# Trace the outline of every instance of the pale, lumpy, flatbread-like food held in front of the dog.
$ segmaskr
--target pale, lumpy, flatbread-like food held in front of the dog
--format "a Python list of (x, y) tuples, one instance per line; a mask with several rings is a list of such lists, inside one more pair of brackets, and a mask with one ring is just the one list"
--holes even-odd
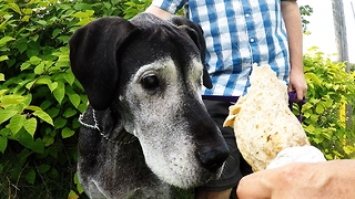
[(283, 149), (310, 146), (310, 142), (288, 108), (286, 83), (277, 78), (270, 65), (253, 65), (250, 82), (247, 94), (230, 107), (224, 126), (234, 128), (242, 156), (257, 171), (265, 169)]

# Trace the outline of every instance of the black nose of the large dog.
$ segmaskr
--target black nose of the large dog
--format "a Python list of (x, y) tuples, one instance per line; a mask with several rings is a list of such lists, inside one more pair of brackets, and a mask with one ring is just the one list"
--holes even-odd
[(212, 172), (222, 167), (229, 155), (230, 150), (224, 146), (217, 148), (205, 148), (196, 154), (202, 167)]

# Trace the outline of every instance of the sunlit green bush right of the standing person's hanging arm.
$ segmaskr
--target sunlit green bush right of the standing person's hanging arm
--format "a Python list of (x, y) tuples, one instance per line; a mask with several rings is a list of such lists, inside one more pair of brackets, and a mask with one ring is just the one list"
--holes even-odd
[(345, 104), (354, 107), (354, 72), (346, 73), (344, 63), (332, 62), (317, 49), (304, 56), (304, 71), (308, 85), (304, 128), (311, 143), (327, 159), (354, 158), (354, 128), (347, 128), (341, 118)]

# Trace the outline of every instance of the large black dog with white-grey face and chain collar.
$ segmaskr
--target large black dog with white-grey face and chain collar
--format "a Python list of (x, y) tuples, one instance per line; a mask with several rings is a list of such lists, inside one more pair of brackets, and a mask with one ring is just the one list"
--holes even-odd
[(202, 29), (184, 17), (97, 19), (69, 41), (89, 106), (78, 175), (90, 198), (172, 198), (221, 175), (229, 148), (201, 98)]

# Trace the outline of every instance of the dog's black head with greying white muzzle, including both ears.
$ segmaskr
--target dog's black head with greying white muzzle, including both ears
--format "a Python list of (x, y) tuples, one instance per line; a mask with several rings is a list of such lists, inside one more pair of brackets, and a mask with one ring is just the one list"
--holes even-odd
[(95, 109), (114, 108), (162, 180), (197, 186), (217, 177), (229, 156), (201, 100), (211, 87), (202, 30), (183, 17), (102, 18), (70, 40), (70, 61)]

